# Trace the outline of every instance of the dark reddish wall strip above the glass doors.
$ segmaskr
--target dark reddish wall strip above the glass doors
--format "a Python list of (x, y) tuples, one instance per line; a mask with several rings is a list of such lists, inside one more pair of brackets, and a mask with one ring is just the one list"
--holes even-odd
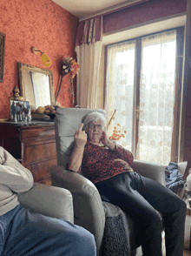
[(121, 30), (187, 10), (187, 0), (151, 0), (103, 17), (103, 32)]

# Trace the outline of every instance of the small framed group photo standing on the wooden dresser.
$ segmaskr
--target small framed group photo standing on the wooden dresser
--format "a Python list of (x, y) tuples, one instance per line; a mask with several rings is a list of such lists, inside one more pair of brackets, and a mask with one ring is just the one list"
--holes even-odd
[(20, 101), (10, 99), (10, 121), (12, 122), (30, 122), (31, 111), (29, 101)]

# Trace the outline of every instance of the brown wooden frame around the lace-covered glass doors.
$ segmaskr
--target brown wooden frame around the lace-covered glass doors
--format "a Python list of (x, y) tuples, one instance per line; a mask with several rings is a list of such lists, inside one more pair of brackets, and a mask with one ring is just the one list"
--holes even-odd
[[(181, 98), (182, 98), (182, 77), (183, 77), (183, 51), (184, 51), (184, 34), (185, 34), (185, 26), (176, 27), (168, 30), (176, 30), (176, 63), (175, 63), (175, 106), (174, 106), (174, 125), (172, 132), (172, 145), (171, 145), (171, 156), (170, 161), (177, 163), (180, 159), (181, 148)], [(136, 118), (135, 112), (137, 111), (137, 106), (140, 105), (140, 79), (141, 79), (141, 66), (142, 66), (142, 37), (148, 37), (151, 35), (155, 35), (161, 32), (165, 32), (168, 30), (161, 30), (155, 33), (145, 34), (141, 37), (129, 38), (128, 40), (123, 40), (121, 42), (117, 42), (114, 44), (120, 44), (123, 42), (128, 42), (131, 40), (135, 40), (135, 95), (134, 95), (134, 119), (133, 119), (133, 131), (132, 131), (132, 152), (136, 158), (135, 152), (138, 145), (138, 124), (139, 117)], [(108, 44), (104, 45), (104, 98), (107, 94), (107, 85), (106, 85), (106, 76), (107, 76), (107, 55), (108, 55)], [(104, 108), (106, 106), (104, 105)], [(135, 138), (135, 139), (134, 139)]]

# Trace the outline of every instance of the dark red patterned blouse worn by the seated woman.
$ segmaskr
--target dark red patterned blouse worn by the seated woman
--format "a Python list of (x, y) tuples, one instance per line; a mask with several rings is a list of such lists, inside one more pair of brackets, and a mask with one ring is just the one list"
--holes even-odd
[(133, 172), (133, 155), (121, 145), (112, 151), (106, 146), (87, 141), (82, 158), (82, 174), (93, 183), (109, 179), (122, 172)]

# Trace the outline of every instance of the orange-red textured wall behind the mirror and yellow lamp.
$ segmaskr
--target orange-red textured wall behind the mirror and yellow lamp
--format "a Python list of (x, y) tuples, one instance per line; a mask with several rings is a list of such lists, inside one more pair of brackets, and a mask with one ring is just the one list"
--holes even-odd
[[(77, 17), (63, 10), (51, 0), (1, 0), (0, 31), (6, 34), (4, 77), (0, 83), (0, 118), (10, 118), (10, 93), (18, 86), (17, 63), (45, 68), (39, 54), (31, 48), (45, 52), (52, 65), (54, 89), (59, 82), (62, 57), (75, 57)], [(63, 84), (57, 101), (71, 106), (69, 76)]]

